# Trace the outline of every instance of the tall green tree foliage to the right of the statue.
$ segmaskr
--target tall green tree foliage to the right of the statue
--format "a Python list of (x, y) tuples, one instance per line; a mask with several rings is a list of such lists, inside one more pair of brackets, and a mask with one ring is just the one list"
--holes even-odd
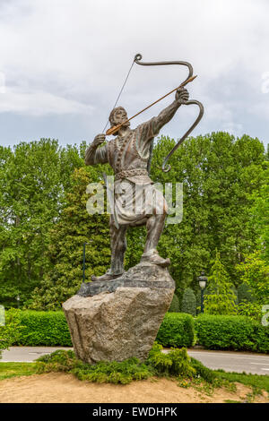
[(186, 287), (198, 288), (196, 277), (202, 270), (209, 273), (215, 249), (237, 286), (235, 265), (256, 249), (256, 226), (249, 221), (252, 193), (260, 194), (265, 184), (264, 146), (247, 135), (197, 136), (178, 148), (169, 161), (170, 172), (163, 173), (162, 159), (174, 145), (168, 137), (161, 138), (152, 159), (152, 179), (181, 182), (184, 192), (182, 222), (165, 228), (160, 253), (171, 257), (171, 275), (181, 294)]

